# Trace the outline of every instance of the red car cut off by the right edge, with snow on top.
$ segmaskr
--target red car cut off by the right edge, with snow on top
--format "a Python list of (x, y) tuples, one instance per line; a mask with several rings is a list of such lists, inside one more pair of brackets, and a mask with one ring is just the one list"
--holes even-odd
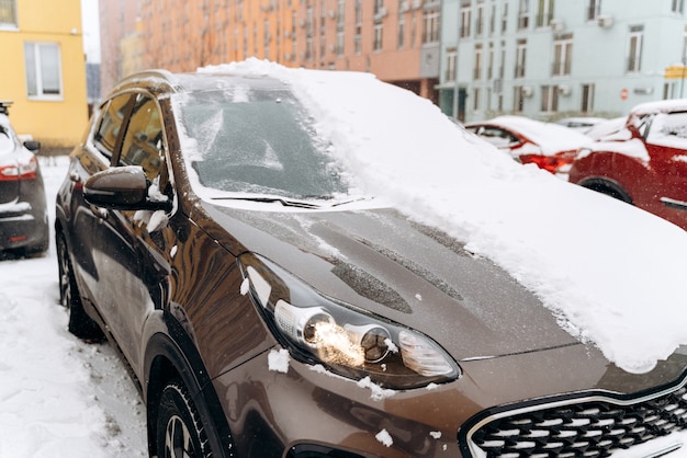
[(579, 150), (570, 181), (687, 229), (687, 99), (635, 106), (623, 129)]

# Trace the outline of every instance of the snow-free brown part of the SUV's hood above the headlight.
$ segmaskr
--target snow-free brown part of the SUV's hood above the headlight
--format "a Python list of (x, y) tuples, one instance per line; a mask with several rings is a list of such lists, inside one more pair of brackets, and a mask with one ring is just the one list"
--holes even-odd
[(431, 336), (458, 360), (578, 343), (505, 271), (397, 210), (204, 207), (235, 255), (266, 256), (326, 296)]

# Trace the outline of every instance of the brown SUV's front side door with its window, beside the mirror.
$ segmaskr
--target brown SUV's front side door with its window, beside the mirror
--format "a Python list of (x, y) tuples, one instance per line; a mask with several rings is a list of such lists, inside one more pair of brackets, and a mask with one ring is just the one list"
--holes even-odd
[[(157, 101), (144, 93), (133, 106), (112, 167), (139, 165), (153, 198), (170, 193), (166, 139)], [(162, 252), (168, 215), (164, 210), (103, 213), (106, 277), (99, 304), (120, 348), (136, 370), (140, 367), (142, 332), (146, 318), (167, 300), (169, 263)], [(173, 237), (173, 234), (172, 234)]]

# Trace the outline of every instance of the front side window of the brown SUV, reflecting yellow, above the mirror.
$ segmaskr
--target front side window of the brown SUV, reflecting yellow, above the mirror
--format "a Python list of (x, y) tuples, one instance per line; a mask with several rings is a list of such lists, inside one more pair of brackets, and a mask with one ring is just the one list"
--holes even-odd
[(159, 185), (164, 163), (160, 112), (155, 100), (138, 94), (122, 141), (119, 165), (140, 165), (148, 180)]

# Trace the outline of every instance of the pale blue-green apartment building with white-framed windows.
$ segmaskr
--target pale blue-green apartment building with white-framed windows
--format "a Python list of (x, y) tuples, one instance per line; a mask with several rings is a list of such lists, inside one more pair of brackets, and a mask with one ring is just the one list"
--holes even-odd
[(684, 0), (443, 0), (439, 105), (470, 122), (687, 96)]

